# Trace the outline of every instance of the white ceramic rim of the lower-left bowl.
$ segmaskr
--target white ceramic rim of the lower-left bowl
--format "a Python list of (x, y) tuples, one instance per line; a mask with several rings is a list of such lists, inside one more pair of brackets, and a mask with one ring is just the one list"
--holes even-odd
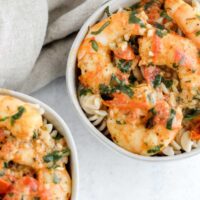
[(10, 95), (13, 97), (16, 97), (18, 99), (21, 99), (25, 102), (38, 104), (41, 106), (41, 108), (44, 109), (44, 117), (51, 122), (55, 128), (65, 137), (67, 145), (70, 149), (71, 155), (70, 155), (70, 174), (72, 178), (72, 197), (71, 200), (77, 200), (78, 199), (78, 184), (79, 184), (79, 173), (78, 173), (78, 158), (77, 158), (77, 150), (75, 147), (74, 140), (72, 138), (72, 134), (64, 122), (64, 120), (49, 106), (42, 103), (41, 101), (11, 90), (7, 89), (0, 89), (0, 95)]

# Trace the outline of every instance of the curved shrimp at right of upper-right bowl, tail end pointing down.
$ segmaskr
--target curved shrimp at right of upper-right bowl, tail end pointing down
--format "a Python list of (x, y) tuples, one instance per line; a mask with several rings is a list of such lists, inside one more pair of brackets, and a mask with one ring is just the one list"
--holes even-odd
[(181, 97), (189, 104), (200, 90), (200, 58), (197, 47), (189, 39), (175, 33), (160, 37), (154, 32), (139, 40), (140, 66), (153, 63), (175, 70), (180, 79)]

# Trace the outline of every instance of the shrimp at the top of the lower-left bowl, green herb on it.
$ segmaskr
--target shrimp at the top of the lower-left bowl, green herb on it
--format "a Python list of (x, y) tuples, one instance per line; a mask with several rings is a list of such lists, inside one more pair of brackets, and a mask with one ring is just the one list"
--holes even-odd
[(6, 128), (16, 138), (30, 140), (42, 126), (40, 110), (11, 96), (0, 96), (0, 128)]

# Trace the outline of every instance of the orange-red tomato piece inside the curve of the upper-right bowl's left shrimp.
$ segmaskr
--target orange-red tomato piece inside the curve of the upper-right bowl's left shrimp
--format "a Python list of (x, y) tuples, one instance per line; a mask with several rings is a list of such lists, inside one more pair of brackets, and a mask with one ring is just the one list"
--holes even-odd
[(134, 51), (129, 45), (125, 50), (122, 50), (121, 48), (114, 50), (114, 54), (117, 58), (124, 60), (133, 60), (135, 58)]

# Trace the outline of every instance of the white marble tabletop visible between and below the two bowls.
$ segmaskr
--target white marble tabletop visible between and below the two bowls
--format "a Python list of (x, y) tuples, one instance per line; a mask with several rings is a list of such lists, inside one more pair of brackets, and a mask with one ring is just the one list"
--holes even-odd
[(69, 125), (80, 161), (80, 200), (199, 200), (200, 155), (169, 163), (148, 163), (112, 152), (84, 128), (61, 78), (34, 97), (55, 109)]

